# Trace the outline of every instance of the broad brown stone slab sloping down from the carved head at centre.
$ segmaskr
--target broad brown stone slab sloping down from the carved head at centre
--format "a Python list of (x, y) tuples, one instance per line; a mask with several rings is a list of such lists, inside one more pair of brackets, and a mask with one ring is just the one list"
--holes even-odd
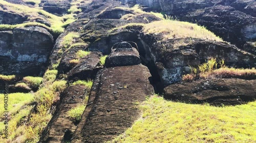
[(131, 127), (140, 115), (136, 103), (153, 91), (150, 77), (143, 65), (100, 70), (72, 142), (104, 142)]

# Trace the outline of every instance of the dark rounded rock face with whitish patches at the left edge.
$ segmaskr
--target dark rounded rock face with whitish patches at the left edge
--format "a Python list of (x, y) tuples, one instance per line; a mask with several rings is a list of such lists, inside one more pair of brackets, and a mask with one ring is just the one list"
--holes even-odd
[(52, 35), (41, 27), (15, 28), (0, 32), (0, 72), (38, 75), (53, 47)]

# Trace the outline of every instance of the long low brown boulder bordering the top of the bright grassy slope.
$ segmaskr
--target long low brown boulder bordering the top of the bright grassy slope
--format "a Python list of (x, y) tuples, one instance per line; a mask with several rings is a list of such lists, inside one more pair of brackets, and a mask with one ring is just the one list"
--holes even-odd
[(227, 78), (176, 83), (164, 89), (164, 98), (186, 103), (244, 104), (256, 99), (256, 80)]

